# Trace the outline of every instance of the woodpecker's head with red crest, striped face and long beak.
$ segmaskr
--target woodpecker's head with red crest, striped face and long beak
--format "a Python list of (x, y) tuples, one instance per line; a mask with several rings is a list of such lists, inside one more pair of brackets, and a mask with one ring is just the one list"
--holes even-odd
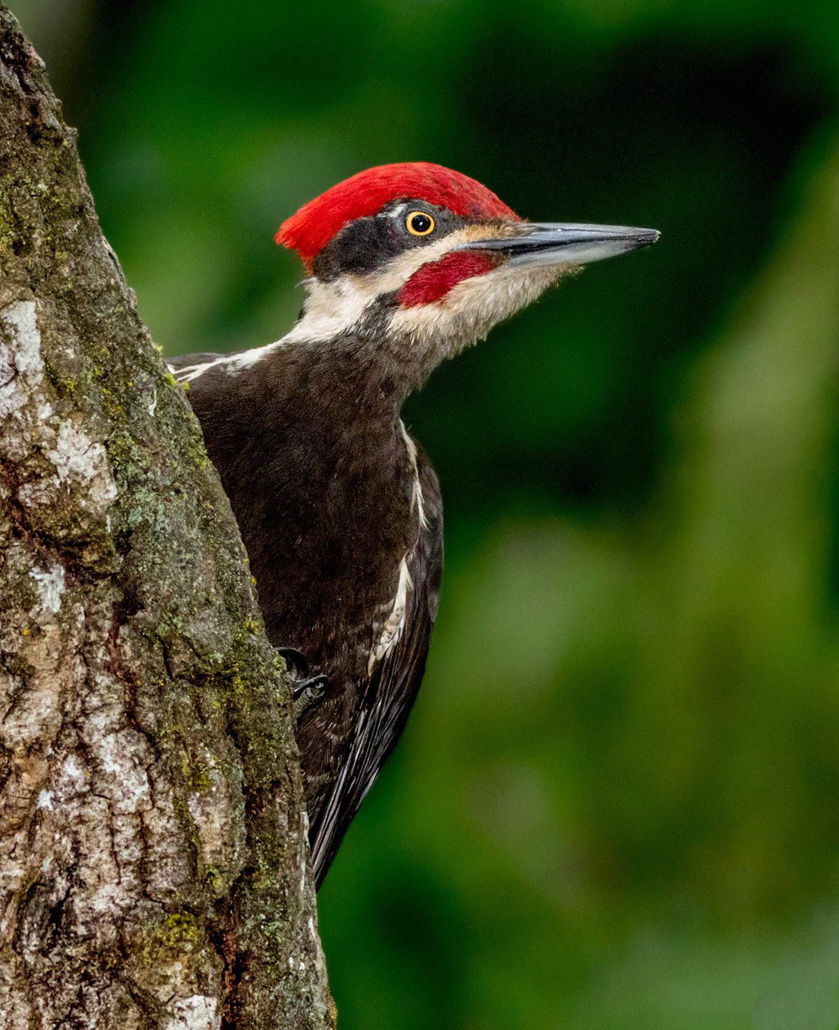
[(589, 262), (655, 230), (531, 222), (459, 172), (425, 162), (359, 172), (310, 201), (276, 239), (306, 265), (301, 339), (356, 338), (422, 379)]

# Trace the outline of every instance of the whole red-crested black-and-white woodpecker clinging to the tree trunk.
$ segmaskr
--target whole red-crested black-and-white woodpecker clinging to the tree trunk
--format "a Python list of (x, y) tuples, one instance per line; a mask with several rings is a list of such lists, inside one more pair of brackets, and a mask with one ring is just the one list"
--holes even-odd
[(171, 360), (239, 524), (269, 641), (294, 677), (317, 887), (405, 728), (443, 568), (430, 461), (400, 418), (445, 359), (650, 229), (532, 222), (427, 162), (359, 172), (276, 241), (306, 269), (275, 343)]

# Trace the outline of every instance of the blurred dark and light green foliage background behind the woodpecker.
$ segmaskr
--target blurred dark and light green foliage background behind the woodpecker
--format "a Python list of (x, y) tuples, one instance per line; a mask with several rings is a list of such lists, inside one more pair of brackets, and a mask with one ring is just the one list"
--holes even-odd
[(286, 332), (274, 232), (374, 164), (663, 233), (410, 403), (447, 569), (320, 896), (342, 1030), (834, 1030), (839, 3), (12, 8), (170, 354)]

